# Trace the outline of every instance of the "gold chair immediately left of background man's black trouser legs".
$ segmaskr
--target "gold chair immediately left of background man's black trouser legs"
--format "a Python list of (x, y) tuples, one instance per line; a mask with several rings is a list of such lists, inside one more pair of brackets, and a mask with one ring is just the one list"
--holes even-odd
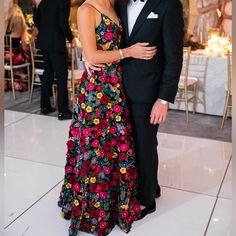
[[(31, 89), (29, 103), (32, 103), (33, 92), (35, 86), (41, 86), (40, 76), (44, 72), (44, 59), (39, 49), (33, 49), (32, 42), (29, 44), (31, 48), (31, 61), (32, 61), (32, 78), (31, 78)], [(53, 89), (53, 102), (56, 105), (56, 95)]]

